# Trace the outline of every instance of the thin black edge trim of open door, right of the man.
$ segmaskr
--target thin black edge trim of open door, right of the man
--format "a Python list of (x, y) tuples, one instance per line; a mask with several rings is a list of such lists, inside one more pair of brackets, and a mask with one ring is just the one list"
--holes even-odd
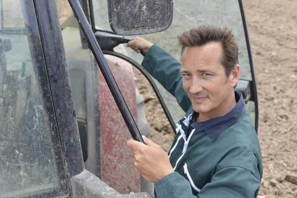
[(255, 102), (255, 130), (258, 133), (258, 121), (259, 121), (259, 109), (258, 109), (258, 96), (257, 96), (257, 84), (256, 84), (256, 78), (255, 78), (255, 72), (253, 68), (253, 61), (252, 61), (252, 53), (249, 43), (249, 36), (248, 36), (248, 30), (247, 30), (247, 21), (246, 21), (246, 15), (245, 10), (243, 6), (242, 0), (238, 0), (240, 11), (242, 15), (245, 35), (246, 35), (246, 41), (247, 41), (247, 52), (248, 52), (248, 59), (249, 59), (249, 65), (250, 65), (250, 73), (251, 73), (251, 101)]

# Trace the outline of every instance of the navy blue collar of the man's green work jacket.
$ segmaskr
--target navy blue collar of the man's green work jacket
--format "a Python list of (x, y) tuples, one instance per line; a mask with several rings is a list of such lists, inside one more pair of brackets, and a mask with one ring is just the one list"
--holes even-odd
[(195, 122), (198, 116), (197, 112), (193, 112), (192, 120), (190, 121), (191, 127), (197, 131), (204, 130), (207, 135), (215, 141), (221, 133), (223, 133), (228, 127), (230, 127), (243, 113), (245, 108), (245, 100), (240, 92), (235, 91), (236, 105), (226, 115), (216, 117), (203, 122)]

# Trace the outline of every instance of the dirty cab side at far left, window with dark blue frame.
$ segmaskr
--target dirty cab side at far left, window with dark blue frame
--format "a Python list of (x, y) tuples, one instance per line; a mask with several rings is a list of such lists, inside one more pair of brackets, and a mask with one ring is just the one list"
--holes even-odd
[(0, 21), (0, 198), (129, 197), (84, 168), (56, 2), (0, 0)]

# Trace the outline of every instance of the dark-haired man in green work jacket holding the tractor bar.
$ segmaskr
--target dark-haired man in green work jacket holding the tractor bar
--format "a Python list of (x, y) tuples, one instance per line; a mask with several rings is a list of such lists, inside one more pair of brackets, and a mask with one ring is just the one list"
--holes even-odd
[[(255, 198), (262, 178), (259, 141), (241, 93), (238, 45), (227, 28), (199, 26), (178, 36), (182, 64), (139, 37), (144, 68), (187, 111), (169, 156), (144, 138), (129, 140), (136, 170), (157, 198)], [(192, 105), (191, 105), (192, 104)]]

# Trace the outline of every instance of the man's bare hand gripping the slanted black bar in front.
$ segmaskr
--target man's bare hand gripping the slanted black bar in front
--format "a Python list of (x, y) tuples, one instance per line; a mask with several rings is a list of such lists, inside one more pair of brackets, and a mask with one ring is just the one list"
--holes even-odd
[(167, 153), (145, 136), (143, 139), (147, 145), (131, 139), (127, 142), (127, 146), (134, 153), (136, 171), (147, 181), (156, 183), (174, 170)]

